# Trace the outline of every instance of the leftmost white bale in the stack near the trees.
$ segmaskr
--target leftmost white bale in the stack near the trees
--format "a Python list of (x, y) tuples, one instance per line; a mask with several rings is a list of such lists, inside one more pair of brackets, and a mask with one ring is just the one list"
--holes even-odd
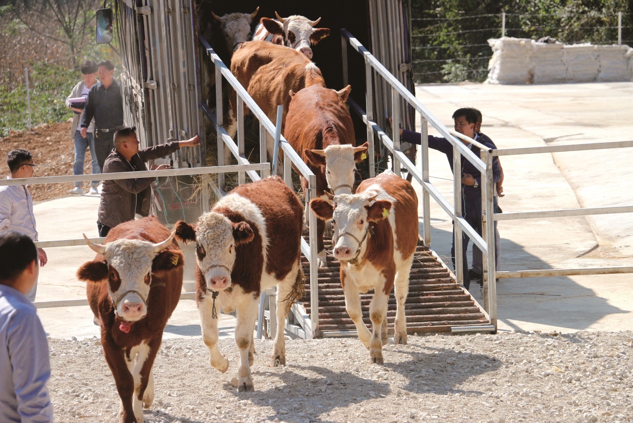
[(514, 37), (489, 39), (492, 58), (488, 63), (487, 83), (529, 83), (532, 79), (530, 58), (534, 40)]

